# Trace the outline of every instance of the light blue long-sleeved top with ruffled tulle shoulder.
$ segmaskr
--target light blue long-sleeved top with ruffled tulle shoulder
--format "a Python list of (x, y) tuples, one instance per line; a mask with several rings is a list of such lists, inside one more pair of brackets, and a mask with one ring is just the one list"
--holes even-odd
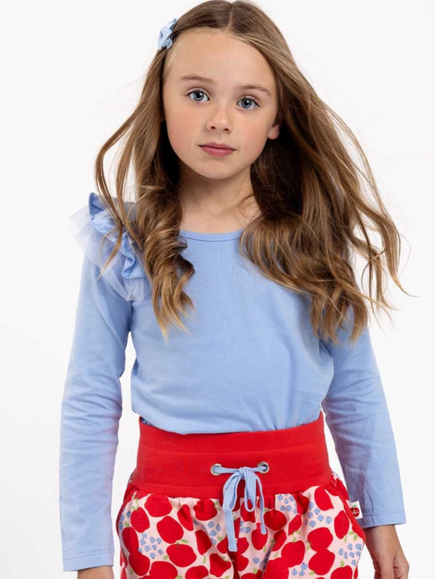
[[(323, 408), (361, 527), (405, 523), (392, 424), (368, 327), (356, 343), (352, 309), (335, 345), (313, 333), (307, 296), (266, 279), (240, 254), (242, 230), (184, 229), (195, 266), (185, 286), (196, 311), (189, 330), (163, 339), (151, 287), (124, 230), (96, 193), (70, 216), (84, 250), (60, 428), (60, 524), (64, 571), (114, 565), (112, 479), (122, 414), (120, 376), (129, 332), (136, 351), (131, 408), (165, 430), (225, 433), (313, 422)], [(284, 489), (285, 490), (285, 489)], [(120, 501), (119, 501), (120, 502)]]

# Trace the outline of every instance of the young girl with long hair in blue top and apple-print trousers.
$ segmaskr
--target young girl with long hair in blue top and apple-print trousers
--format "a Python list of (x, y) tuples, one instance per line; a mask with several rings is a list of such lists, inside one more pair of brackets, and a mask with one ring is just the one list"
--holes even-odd
[[(112, 196), (103, 159), (122, 137)], [(64, 570), (113, 577), (131, 332), (139, 438), (115, 523), (123, 579), (350, 579), (364, 545), (376, 577), (407, 578), (364, 302), (391, 307), (382, 256), (401, 288), (399, 235), (353, 133), (264, 12), (213, 0), (162, 28), (96, 181), (99, 195), (72, 215), (85, 258), (61, 408)], [(359, 290), (352, 248), (376, 273), (375, 298)]]

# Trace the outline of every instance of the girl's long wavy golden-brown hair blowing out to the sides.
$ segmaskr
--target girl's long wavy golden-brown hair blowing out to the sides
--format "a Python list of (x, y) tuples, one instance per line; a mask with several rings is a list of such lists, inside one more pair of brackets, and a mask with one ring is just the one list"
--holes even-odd
[[(261, 215), (244, 229), (239, 249), (265, 277), (310, 296), (313, 332), (321, 339), (337, 342), (335, 332), (343, 327), (352, 306), (350, 339), (355, 341), (368, 321), (364, 298), (372, 307), (376, 303), (378, 308), (395, 309), (386, 301), (383, 290), (384, 259), (394, 283), (405, 292), (397, 279), (400, 234), (382, 203), (356, 137), (302, 75), (276, 25), (248, 0), (210, 0), (177, 20), (171, 35), (173, 45), (156, 52), (136, 108), (98, 152), (97, 189), (118, 232), (107, 265), (119, 250), (125, 228), (141, 255), (152, 288), (153, 310), (165, 340), (170, 323), (187, 329), (180, 314), (187, 314), (187, 306), (195, 306), (183, 287), (195, 269), (181, 255), (186, 245), (178, 239), (182, 217), (178, 159), (170, 146), (166, 124), (160, 119), (162, 86), (177, 55), (177, 39), (187, 30), (202, 27), (231, 34), (255, 47), (268, 61), (277, 83), (282, 126), (279, 137), (268, 140), (251, 165), (253, 195)], [(346, 151), (339, 129), (359, 153), (362, 170)], [(115, 206), (104, 177), (103, 160), (122, 137)], [(130, 165), (135, 179), (134, 219), (130, 219), (124, 205)], [(365, 197), (364, 183), (375, 203)], [(355, 233), (356, 226), (361, 236)], [(368, 229), (381, 236), (382, 251), (372, 244)], [(364, 271), (368, 266), (369, 295), (356, 283), (352, 248), (367, 260)]]

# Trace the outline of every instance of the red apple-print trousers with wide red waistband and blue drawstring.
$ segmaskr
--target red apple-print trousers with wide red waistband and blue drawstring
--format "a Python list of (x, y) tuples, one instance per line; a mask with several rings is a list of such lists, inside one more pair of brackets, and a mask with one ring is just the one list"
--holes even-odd
[(121, 579), (358, 577), (365, 533), (330, 468), (322, 412), (283, 430), (139, 428), (116, 516)]

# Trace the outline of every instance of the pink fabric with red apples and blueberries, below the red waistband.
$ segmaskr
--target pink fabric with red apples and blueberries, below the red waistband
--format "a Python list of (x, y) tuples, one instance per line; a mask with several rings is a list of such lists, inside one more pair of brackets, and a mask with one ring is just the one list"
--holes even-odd
[[(168, 497), (127, 486), (116, 518), (120, 579), (220, 577), (356, 579), (365, 533), (337, 473), (326, 486), (265, 499), (262, 534), (255, 510), (233, 508), (237, 552), (228, 551), (221, 499)], [(251, 506), (251, 504), (250, 504)], [(237, 571), (237, 574), (235, 572)], [(258, 575), (257, 575), (258, 574)]]

